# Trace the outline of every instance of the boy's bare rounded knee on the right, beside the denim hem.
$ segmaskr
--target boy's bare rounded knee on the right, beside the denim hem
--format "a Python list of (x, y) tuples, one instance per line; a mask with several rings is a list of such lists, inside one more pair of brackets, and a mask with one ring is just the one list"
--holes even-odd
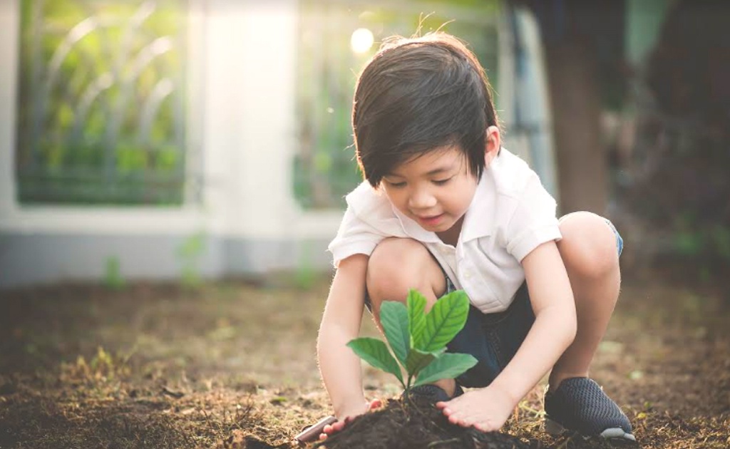
[(606, 219), (592, 212), (572, 212), (560, 219), (558, 242), (566, 269), (599, 278), (618, 269), (616, 234)]

